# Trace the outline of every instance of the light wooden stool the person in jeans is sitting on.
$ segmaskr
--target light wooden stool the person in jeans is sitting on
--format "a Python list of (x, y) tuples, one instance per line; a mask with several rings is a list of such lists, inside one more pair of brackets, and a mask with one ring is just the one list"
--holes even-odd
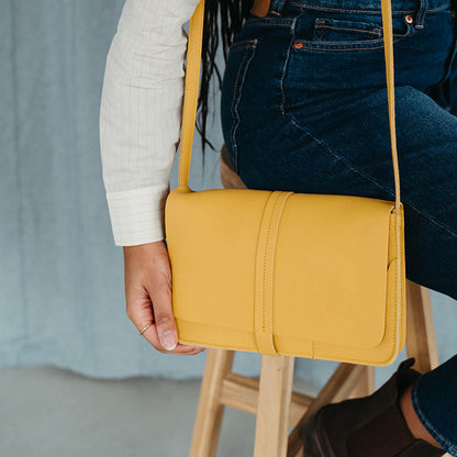
[[(224, 188), (246, 188), (221, 151)], [(428, 289), (406, 280), (409, 357), (421, 372), (438, 365)], [(254, 457), (305, 456), (300, 430), (322, 405), (375, 390), (375, 368), (339, 364), (315, 398), (292, 391), (294, 357), (261, 356), (259, 379), (232, 371), (235, 352), (209, 348), (189, 457), (215, 457), (225, 406), (256, 414)], [(289, 434), (289, 425), (293, 426)]]

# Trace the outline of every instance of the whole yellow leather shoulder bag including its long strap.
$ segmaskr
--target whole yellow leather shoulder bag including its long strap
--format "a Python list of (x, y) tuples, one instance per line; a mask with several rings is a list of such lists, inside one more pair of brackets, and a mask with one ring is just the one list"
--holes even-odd
[(405, 343), (390, 0), (382, 0), (395, 201), (188, 186), (204, 0), (191, 20), (179, 183), (165, 205), (172, 309), (182, 344), (361, 365)]

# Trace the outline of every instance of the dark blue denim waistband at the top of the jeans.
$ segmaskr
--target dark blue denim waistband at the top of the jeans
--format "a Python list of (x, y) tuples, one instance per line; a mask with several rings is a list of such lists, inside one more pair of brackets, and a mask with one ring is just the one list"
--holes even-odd
[[(437, 11), (452, 4), (452, 0), (391, 0), (392, 14)], [(333, 11), (381, 13), (381, 0), (271, 0), (270, 11), (280, 14), (285, 7), (305, 7)]]

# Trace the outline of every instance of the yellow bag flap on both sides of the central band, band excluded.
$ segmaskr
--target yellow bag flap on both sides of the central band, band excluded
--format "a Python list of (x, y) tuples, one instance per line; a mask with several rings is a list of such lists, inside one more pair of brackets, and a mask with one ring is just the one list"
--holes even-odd
[[(270, 194), (169, 193), (165, 223), (177, 317), (254, 333), (257, 243)], [(355, 347), (382, 341), (392, 208), (353, 196), (287, 199), (267, 285), (275, 335)]]

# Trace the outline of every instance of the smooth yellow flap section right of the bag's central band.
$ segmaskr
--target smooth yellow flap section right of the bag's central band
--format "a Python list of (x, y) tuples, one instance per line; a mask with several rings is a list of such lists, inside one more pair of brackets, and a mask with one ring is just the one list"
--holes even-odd
[(279, 224), (274, 334), (372, 347), (383, 337), (392, 202), (294, 193)]

